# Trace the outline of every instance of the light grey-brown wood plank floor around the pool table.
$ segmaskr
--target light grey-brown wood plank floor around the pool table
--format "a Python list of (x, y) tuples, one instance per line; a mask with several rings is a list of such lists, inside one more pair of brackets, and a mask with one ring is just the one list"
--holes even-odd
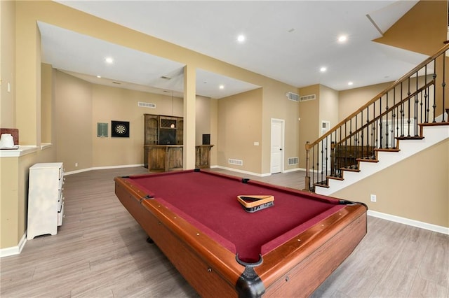
[[(0, 296), (197, 297), (116, 199), (115, 176), (145, 172), (67, 176), (62, 227), (55, 236), (27, 241), (20, 255), (0, 259)], [(300, 171), (258, 179), (304, 187)], [(448, 298), (449, 236), (368, 217), (368, 234), (313, 297)]]

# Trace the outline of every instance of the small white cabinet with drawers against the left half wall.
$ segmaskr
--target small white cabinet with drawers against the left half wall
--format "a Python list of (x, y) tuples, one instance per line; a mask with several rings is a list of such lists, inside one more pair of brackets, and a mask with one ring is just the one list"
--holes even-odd
[(58, 233), (64, 217), (62, 162), (34, 164), (29, 168), (27, 239)]

